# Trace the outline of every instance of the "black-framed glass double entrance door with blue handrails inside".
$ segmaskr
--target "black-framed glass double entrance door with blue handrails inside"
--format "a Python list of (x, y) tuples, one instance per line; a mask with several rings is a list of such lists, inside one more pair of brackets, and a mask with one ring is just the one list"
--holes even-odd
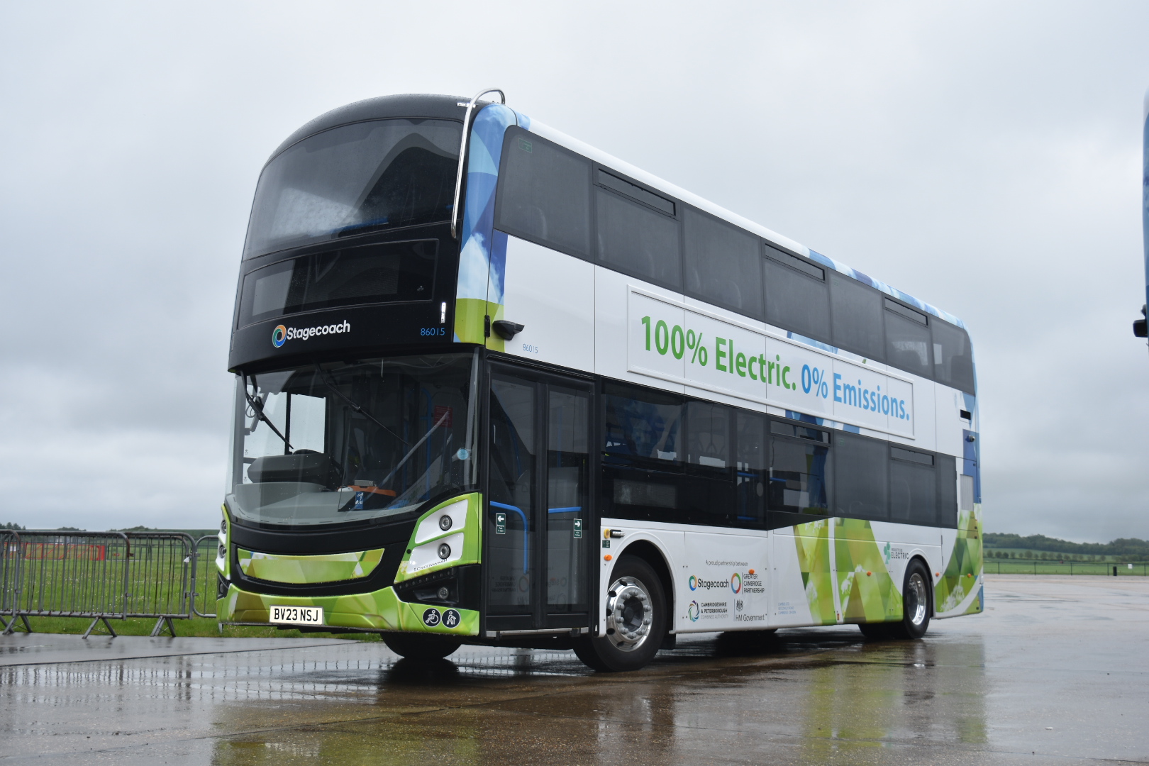
[(485, 633), (588, 627), (591, 384), (492, 364)]

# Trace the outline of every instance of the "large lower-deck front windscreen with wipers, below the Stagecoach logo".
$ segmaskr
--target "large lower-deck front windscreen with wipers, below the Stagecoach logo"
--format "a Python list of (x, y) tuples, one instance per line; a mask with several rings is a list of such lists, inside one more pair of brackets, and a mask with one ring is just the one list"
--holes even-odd
[(237, 377), (228, 505), (242, 521), (393, 518), (473, 488), (470, 354)]

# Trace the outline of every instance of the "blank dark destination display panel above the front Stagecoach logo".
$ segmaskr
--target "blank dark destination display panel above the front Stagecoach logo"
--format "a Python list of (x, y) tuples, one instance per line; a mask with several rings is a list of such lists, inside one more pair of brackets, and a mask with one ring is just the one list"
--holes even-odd
[(429, 301), (438, 241), (388, 242), (316, 253), (244, 277), (239, 326), (356, 303)]

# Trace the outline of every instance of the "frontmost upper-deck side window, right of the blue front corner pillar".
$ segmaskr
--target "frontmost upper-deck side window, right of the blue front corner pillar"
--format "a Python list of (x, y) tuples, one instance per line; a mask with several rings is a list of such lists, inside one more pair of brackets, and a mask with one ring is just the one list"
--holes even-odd
[(498, 229), (589, 257), (591, 163), (583, 157), (510, 131), (498, 208)]

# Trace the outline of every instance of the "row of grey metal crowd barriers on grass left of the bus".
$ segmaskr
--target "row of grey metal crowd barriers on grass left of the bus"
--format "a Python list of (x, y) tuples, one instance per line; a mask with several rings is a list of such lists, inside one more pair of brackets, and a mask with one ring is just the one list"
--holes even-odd
[[(173, 619), (215, 617), (207, 612), (215, 567), (198, 566), (205, 540), (179, 532), (0, 531), (3, 635), (17, 627), (31, 633), (29, 617), (78, 617), (92, 620), (85, 639), (101, 622), (115, 636), (108, 620), (128, 618), (155, 618), (153, 636), (175, 636)], [(207, 560), (215, 558), (210, 540)]]

